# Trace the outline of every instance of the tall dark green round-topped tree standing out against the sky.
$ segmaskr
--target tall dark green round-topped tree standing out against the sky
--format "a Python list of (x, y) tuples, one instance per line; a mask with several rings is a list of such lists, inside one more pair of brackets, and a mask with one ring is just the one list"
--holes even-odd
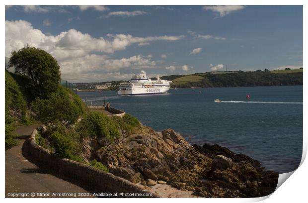
[(8, 62), (15, 72), (30, 78), (33, 95), (46, 97), (59, 87), (60, 67), (54, 57), (44, 50), (26, 46), (13, 51)]

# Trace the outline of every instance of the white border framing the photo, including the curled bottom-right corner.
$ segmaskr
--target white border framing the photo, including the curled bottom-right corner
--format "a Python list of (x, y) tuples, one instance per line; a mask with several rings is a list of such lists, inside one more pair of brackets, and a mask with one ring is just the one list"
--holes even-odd
[[(303, 65), (305, 66), (305, 58), (307, 56), (306, 54), (306, 50), (307, 50), (307, 1), (305, 0), (207, 0), (207, 1), (201, 1), (201, 0), (189, 0), (186, 2), (183, 1), (178, 1), (178, 0), (147, 0), (147, 1), (141, 1), (141, 0), (103, 0), (103, 1), (99, 1), (99, 0), (75, 0), (75, 1), (67, 1), (67, 0), (28, 0), (28, 1), (22, 1), (22, 0), (4, 0), (2, 1), (3, 5), (1, 7), (2, 10), (2, 15), (1, 15), (1, 22), (2, 22), (2, 40), (1, 40), (1, 44), (2, 44), (2, 49), (1, 49), (1, 53), (2, 56), (4, 56), (5, 53), (5, 44), (4, 44), (4, 19), (5, 19), (5, 8), (4, 5), (5, 4), (50, 4), (50, 5), (58, 5), (58, 4), (72, 4), (72, 5), (76, 5), (76, 4), (105, 4), (105, 5), (143, 5), (143, 4), (152, 4), (152, 5), (176, 5), (176, 4), (186, 4), (186, 5), (228, 5), (228, 4), (233, 4), (233, 5), (304, 5), (304, 50), (303, 50)], [(86, 3), (84, 3), (86, 2)], [(3, 57), (4, 58), (4, 57)], [(2, 58), (2, 60), (3, 60)], [(2, 62), (2, 64), (4, 64), (4, 61)], [(304, 67), (303, 66), (303, 67)], [(306, 68), (306, 67), (305, 67)], [(0, 72), (1, 74), (1, 78), (2, 80), (2, 84), (4, 84), (4, 71)], [(307, 76), (307, 71), (304, 71), (304, 81), (305, 78)], [(307, 112), (307, 106), (306, 106), (306, 99), (307, 99), (307, 91), (306, 91), (306, 83), (304, 82), (304, 109), (303, 109), (303, 113), (304, 113), (304, 145), (303, 145), (303, 157), (302, 157), (302, 162), (301, 162), (301, 166), (294, 171), (294, 173), (292, 174), (292, 176), (290, 178), (288, 178), (285, 182), (281, 185), (281, 187), (279, 187), (277, 189), (277, 191), (275, 191), (270, 197), (265, 197), (265, 198), (255, 198), (255, 199), (189, 199), (189, 201), (206, 201), (206, 202), (256, 202), (256, 201), (261, 201), (264, 200), (264, 202), (267, 203), (272, 203), (272, 202), (303, 202), (305, 200), (307, 200), (307, 189), (306, 189), (306, 182), (308, 180), (308, 176), (307, 176), (307, 171), (308, 171), (308, 164), (307, 161), (304, 162), (305, 157), (306, 157), (306, 153), (307, 153), (307, 127), (305, 124), (307, 124), (307, 119), (306, 119), (306, 112)], [(1, 107), (2, 107), (2, 112), (4, 112), (4, 85), (1, 86), (1, 95), (2, 95), (2, 100), (1, 100)], [(4, 136), (4, 113), (1, 112), (1, 130), (2, 130), (2, 136)], [(3, 141), (3, 139), (2, 139)], [(4, 142), (2, 143), (2, 150), (1, 150), (1, 158), (2, 158), (2, 163), (4, 162)], [(292, 172), (291, 172), (292, 173)], [(288, 175), (291, 175), (291, 173), (289, 174), (284, 174), (282, 176), (280, 176), (280, 179), (286, 179), (286, 177)], [(1, 197), (4, 198), (4, 164), (1, 167)], [(284, 176), (284, 177), (283, 177)], [(25, 202), (37, 202), (37, 201), (42, 201), (39, 199), (5, 199), (5, 201), (7, 202), (17, 202), (17, 201), (25, 201)], [(44, 199), (44, 202), (54, 202), (54, 199)], [(59, 200), (60, 201), (60, 200)], [(72, 201), (72, 200), (71, 200)], [(82, 200), (82, 199), (75, 199), (73, 200), (74, 202), (84, 202), (87, 200)], [(96, 199), (93, 201), (111, 201), (111, 199), (108, 200), (101, 200), (101, 199)], [(186, 202), (188, 201), (187, 199), (161, 199), (161, 200), (155, 200), (155, 199), (124, 199), (124, 200), (119, 200), (119, 199), (112, 199), (112, 201), (129, 201), (129, 202), (155, 202), (156, 201), (171, 201), (171, 202)]]

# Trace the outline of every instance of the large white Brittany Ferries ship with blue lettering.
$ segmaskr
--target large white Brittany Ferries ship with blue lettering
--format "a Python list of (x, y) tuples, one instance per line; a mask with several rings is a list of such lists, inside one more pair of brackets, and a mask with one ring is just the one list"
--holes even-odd
[(171, 81), (151, 80), (147, 78), (146, 72), (133, 75), (128, 83), (121, 83), (118, 89), (118, 95), (149, 95), (162, 94), (170, 89)]

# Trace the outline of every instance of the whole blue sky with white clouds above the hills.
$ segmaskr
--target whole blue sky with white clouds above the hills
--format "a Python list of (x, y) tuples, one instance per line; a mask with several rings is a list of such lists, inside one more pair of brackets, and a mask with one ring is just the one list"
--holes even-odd
[(73, 83), (303, 67), (303, 6), (5, 6), (5, 57), (29, 44)]

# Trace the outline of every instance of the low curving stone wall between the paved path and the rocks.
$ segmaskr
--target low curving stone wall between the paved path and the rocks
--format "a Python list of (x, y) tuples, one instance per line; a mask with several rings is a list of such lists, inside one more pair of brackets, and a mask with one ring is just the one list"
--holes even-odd
[(61, 159), (55, 153), (36, 144), (35, 135), (42, 129), (42, 127), (35, 129), (22, 147), (22, 154), (40, 168), (48, 169), (52, 174), (92, 193), (151, 194), (152, 196), (148, 197), (159, 198), (143, 187), (111, 173), (69, 159)]

